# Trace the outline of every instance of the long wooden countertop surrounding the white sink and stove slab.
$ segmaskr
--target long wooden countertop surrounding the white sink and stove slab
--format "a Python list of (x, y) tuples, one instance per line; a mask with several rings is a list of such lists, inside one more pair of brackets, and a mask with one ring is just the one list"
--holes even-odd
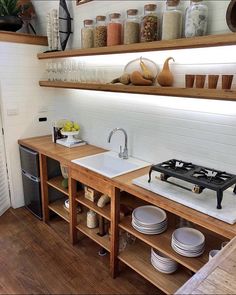
[[(77, 171), (88, 171), (88, 169), (72, 163), (71, 160), (106, 151), (105, 149), (89, 144), (80, 147), (67, 148), (62, 145), (53, 143), (52, 137), (49, 135), (20, 139), (18, 143), (25, 147), (31, 148), (43, 155), (51, 157), (61, 162), (62, 164), (70, 167), (71, 169)], [(142, 200), (148, 201), (164, 210), (168, 210), (169, 212), (172, 212), (180, 217), (183, 217), (193, 223), (197, 223), (198, 225), (204, 228), (210, 229), (211, 231), (227, 239), (232, 239), (236, 236), (236, 224), (227, 224), (223, 221), (217, 220), (211, 216), (198, 212), (194, 209), (188, 208), (182, 204), (176, 203), (172, 200), (169, 200), (165, 197), (162, 197), (160, 195), (157, 195), (153, 192), (150, 192), (146, 189), (143, 189), (132, 184), (133, 179), (147, 174), (148, 171), (149, 167), (146, 167), (124, 174), (122, 176), (115, 177), (113, 179), (101, 176), (93, 171), (89, 172), (91, 173), (91, 176), (94, 175), (95, 177), (106, 179), (106, 181), (111, 182), (115, 187), (121, 190), (124, 190)]]

